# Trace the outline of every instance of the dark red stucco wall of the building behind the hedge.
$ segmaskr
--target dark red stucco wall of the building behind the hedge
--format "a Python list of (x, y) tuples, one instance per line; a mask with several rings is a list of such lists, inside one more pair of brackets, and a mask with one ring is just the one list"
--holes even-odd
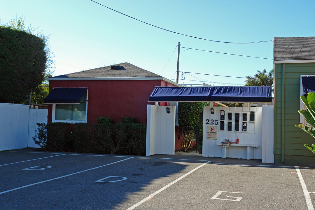
[[(135, 117), (138, 123), (146, 123), (147, 105), (154, 104), (148, 102), (149, 95), (155, 86), (167, 85), (174, 86), (163, 80), (51, 80), (49, 92), (53, 88), (89, 88), (89, 124), (95, 124), (96, 117), (112, 117), (114, 123), (120, 123), (121, 117)], [(49, 105), (48, 122), (51, 121), (52, 105)]]

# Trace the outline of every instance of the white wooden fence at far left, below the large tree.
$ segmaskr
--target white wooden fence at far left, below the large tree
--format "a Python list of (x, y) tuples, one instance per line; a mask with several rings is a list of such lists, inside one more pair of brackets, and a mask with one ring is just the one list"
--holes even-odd
[(0, 103), (0, 151), (38, 147), (32, 137), (36, 123), (47, 123), (47, 109), (29, 105)]

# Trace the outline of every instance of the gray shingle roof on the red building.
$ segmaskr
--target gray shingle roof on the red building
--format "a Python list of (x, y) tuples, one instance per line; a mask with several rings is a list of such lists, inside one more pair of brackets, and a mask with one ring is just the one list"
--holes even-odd
[(52, 78), (89, 78), (89, 77), (161, 77), (150, 71), (139, 68), (130, 63), (115, 64), (122, 66), (119, 70), (111, 70), (111, 65), (71, 74), (64, 74)]

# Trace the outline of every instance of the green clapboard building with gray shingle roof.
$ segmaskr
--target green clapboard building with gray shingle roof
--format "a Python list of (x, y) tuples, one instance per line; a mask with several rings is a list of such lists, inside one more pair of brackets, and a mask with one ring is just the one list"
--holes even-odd
[(315, 139), (294, 126), (304, 123), (298, 113), (305, 109), (301, 77), (313, 79), (315, 86), (315, 37), (275, 37), (273, 63), (274, 162), (315, 165), (315, 154), (304, 147)]

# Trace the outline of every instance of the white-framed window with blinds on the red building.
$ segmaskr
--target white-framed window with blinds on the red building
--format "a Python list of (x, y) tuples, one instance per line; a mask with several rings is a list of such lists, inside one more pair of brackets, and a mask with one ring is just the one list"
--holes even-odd
[(80, 104), (56, 104), (56, 121), (86, 121), (86, 98), (85, 93), (80, 99)]

